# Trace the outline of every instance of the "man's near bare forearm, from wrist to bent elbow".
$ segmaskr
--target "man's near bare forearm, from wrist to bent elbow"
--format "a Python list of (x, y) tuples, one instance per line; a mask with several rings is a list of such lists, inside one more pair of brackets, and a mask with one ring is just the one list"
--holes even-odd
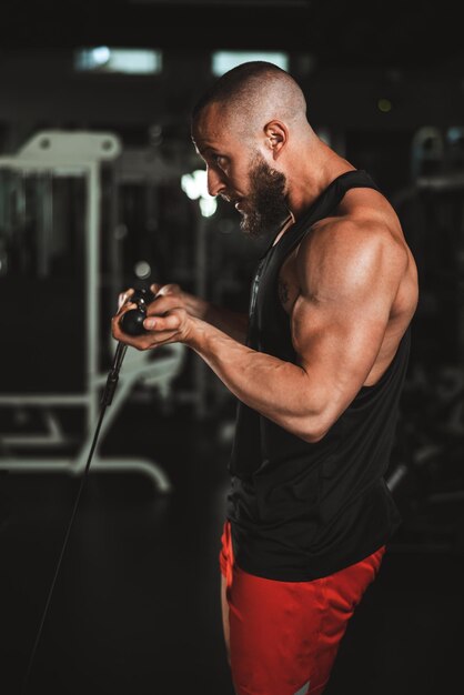
[(306, 372), (238, 343), (204, 321), (195, 321), (186, 344), (240, 401), (306, 441), (323, 436), (321, 390)]

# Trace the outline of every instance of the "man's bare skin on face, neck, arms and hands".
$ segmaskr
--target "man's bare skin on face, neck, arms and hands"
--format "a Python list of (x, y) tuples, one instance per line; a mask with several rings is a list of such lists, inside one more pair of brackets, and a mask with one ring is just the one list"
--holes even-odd
[[(264, 113), (250, 138), (215, 102), (201, 111), (193, 141), (206, 164), (209, 191), (252, 212), (250, 170), (259, 158), (285, 177), (289, 225), (337, 175), (353, 167), (307, 121)], [(250, 198), (249, 198), (250, 197)], [(275, 242), (279, 241), (279, 238)], [(387, 200), (352, 189), (336, 214), (314, 224), (282, 266), (280, 298), (289, 314), (297, 364), (245, 346), (246, 318), (182, 292), (155, 286), (144, 326), (124, 335), (121, 306), (113, 336), (139, 350), (182, 342), (194, 350), (243, 403), (302, 437), (317, 442), (363, 385), (392, 361), (417, 303), (417, 272), (400, 221)]]

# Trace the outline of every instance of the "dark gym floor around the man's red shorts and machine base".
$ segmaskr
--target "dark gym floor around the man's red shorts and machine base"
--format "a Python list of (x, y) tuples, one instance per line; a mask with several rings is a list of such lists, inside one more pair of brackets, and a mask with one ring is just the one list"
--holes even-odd
[[(102, 454), (155, 452), (172, 490), (90, 471), (26, 688), (80, 481), (2, 476), (2, 695), (233, 695), (219, 608), (229, 453), (221, 432), (218, 419), (198, 421), (188, 409), (167, 414), (142, 403), (121, 414)], [(463, 503), (424, 508), (407, 483), (397, 494), (403, 527), (324, 695), (462, 692)]]

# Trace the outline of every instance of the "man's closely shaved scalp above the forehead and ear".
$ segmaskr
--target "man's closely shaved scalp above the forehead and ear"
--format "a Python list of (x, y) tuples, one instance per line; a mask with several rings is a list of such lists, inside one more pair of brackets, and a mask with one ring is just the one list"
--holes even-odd
[(301, 88), (285, 70), (265, 61), (242, 63), (219, 78), (194, 105), (192, 125), (211, 104), (242, 135), (252, 135), (273, 119), (307, 127)]

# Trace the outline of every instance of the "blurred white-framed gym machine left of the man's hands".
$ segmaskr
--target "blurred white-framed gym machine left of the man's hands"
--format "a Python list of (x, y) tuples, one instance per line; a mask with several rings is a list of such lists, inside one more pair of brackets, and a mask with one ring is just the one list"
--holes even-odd
[[(85, 465), (115, 349), (111, 314), (102, 311), (102, 178), (121, 150), (110, 132), (50, 130), (0, 158), (0, 306), (8, 321), (0, 410), (3, 426), (11, 425), (0, 435), (0, 470), (79, 474)], [(112, 281), (123, 289), (123, 278)], [(117, 294), (113, 303), (112, 313)], [(167, 397), (183, 359), (183, 345), (157, 355), (129, 349), (101, 441), (135, 385)], [(83, 415), (78, 435), (63, 424), (72, 410)], [(92, 470), (140, 472), (160, 492), (171, 486), (150, 459), (95, 451)]]

